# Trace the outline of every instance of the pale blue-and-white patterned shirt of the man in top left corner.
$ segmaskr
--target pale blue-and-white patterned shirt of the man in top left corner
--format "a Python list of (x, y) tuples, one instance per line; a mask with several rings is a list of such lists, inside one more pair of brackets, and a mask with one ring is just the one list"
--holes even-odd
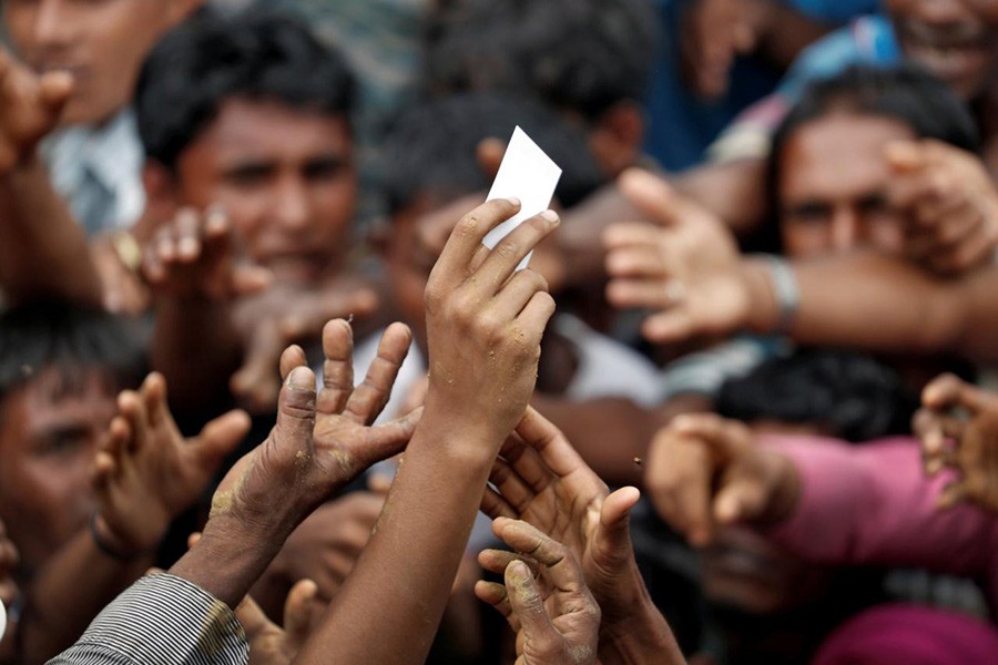
[(50, 136), (42, 155), (86, 235), (126, 228), (142, 215), (144, 155), (131, 110), (100, 129), (74, 126)]

